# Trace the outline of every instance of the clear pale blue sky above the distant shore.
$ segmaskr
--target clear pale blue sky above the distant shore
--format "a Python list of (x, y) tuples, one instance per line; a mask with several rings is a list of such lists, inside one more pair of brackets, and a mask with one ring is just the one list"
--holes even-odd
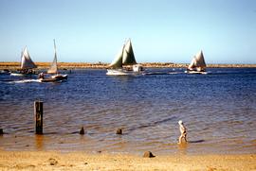
[(0, 61), (111, 62), (131, 38), (138, 62), (256, 63), (255, 0), (0, 0)]

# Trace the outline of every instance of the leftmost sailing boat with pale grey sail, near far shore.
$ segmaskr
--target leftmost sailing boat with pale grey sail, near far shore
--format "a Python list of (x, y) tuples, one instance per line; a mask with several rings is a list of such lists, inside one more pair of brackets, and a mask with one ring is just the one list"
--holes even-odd
[(32, 70), (33, 68), (37, 68), (36, 64), (31, 60), (27, 46), (24, 48), (21, 54), (21, 67), (16, 73), (10, 73), (10, 76), (30, 76), (35, 74)]

